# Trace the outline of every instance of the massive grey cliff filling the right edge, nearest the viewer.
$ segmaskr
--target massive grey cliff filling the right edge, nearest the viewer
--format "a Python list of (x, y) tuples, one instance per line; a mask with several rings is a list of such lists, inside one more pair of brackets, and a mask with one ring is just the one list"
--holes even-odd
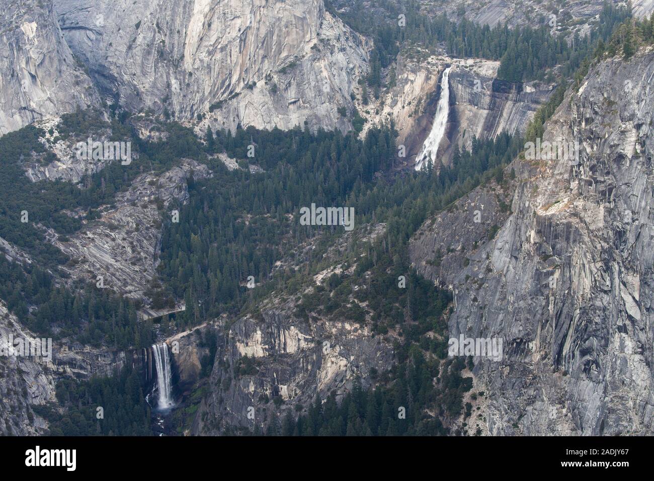
[(593, 67), (543, 136), (577, 140), (578, 163), (516, 162), (511, 216), (468, 267), (441, 273), (451, 336), (504, 341), (502, 361), (475, 358), (491, 434), (654, 433), (653, 85), (651, 50)]

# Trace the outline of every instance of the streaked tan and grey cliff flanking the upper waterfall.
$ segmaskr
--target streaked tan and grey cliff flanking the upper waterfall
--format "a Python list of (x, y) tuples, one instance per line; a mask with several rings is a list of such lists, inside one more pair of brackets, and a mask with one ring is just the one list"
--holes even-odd
[(496, 79), (500, 62), (447, 56), (415, 62), (400, 56), (395, 85), (377, 103), (360, 105), (360, 111), (379, 111), (365, 114), (369, 122), (364, 132), (392, 118), (400, 134), (398, 145), (405, 146), (409, 161), (415, 158), (432, 129), (441, 76), (449, 66), (449, 115), (438, 155), (445, 164), (455, 146), (470, 150), (473, 136), (491, 139), (505, 130), (512, 135), (523, 133), (534, 112), (553, 92), (553, 86), (540, 82)]

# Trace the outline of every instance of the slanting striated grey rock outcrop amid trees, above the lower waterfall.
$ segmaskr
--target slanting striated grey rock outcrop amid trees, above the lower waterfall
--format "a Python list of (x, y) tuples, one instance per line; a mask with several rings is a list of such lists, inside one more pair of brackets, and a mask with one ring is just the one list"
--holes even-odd
[(184, 159), (158, 175), (139, 175), (126, 192), (116, 194), (115, 207), (102, 209), (102, 216), (63, 241), (50, 232), (51, 240), (73, 259), (63, 266), (73, 279), (84, 281), (103, 277), (109, 289), (131, 298), (143, 292), (156, 277), (161, 240), (162, 213), (177, 200), (188, 200), (186, 179), (211, 175), (207, 166)]

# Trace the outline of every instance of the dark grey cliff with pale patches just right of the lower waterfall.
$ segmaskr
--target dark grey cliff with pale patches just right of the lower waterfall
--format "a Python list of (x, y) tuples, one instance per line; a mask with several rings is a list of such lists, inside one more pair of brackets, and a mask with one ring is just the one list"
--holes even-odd
[[(265, 432), (269, 425), (281, 426), (287, 412), (296, 417), (296, 404), (306, 414), (316, 395), (326, 399), (333, 390), (340, 401), (355, 378), (367, 387), (372, 368), (392, 366), (392, 347), (365, 327), (324, 319), (307, 323), (292, 315), (293, 308), (292, 302), (269, 306), (262, 319), (243, 317), (223, 330), (209, 382), (215, 388), (202, 401), (193, 434), (216, 435), (226, 427)], [(253, 359), (251, 372), (239, 372), (245, 355)], [(279, 407), (268, 402), (275, 398), (283, 400)]]

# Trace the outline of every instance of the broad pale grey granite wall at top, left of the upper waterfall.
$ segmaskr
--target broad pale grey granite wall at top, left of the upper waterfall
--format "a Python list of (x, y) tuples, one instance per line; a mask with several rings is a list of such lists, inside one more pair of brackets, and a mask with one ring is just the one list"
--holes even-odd
[[(214, 127), (347, 128), (368, 45), (322, 0), (56, 0), (101, 90), (132, 111)], [(209, 111), (211, 110), (211, 113)], [(206, 124), (200, 129), (206, 130)]]

